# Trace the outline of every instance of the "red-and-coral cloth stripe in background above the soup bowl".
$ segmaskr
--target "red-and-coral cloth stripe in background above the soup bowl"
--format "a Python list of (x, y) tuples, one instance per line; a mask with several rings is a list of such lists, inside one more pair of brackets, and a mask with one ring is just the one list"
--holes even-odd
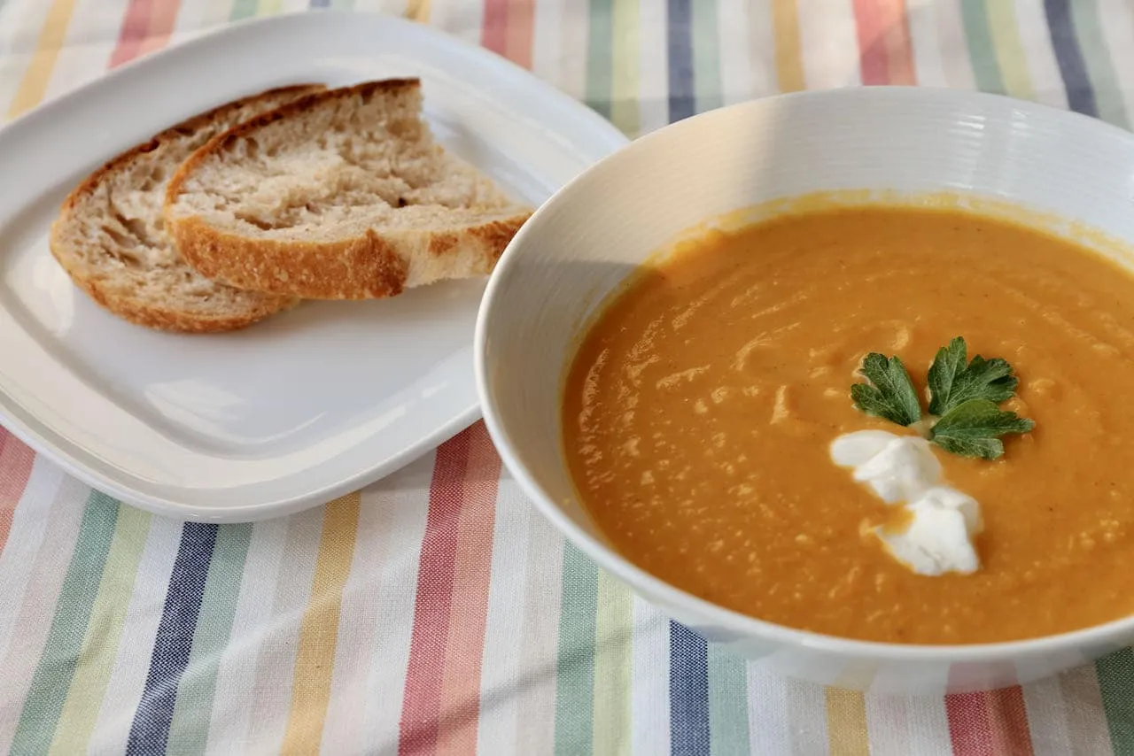
[(854, 0), (863, 84), (915, 84), (905, 0)]

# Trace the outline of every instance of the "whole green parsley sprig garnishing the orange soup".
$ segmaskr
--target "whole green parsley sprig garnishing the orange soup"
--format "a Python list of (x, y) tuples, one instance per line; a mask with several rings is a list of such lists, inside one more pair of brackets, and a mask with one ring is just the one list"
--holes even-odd
[[(926, 436), (954, 455), (997, 459), (1004, 455), (1000, 436), (1027, 433), (1035, 423), (997, 406), (1012, 397), (1018, 383), (1007, 362), (967, 357), (960, 337), (938, 350), (929, 368)], [(921, 424), (921, 404), (900, 359), (871, 352), (858, 372), (869, 383), (850, 387), (855, 408), (898, 425)]]

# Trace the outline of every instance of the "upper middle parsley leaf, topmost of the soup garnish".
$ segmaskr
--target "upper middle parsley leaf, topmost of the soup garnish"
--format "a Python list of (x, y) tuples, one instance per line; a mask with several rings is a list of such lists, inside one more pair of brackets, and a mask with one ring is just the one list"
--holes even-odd
[(960, 337), (938, 350), (929, 368), (930, 415), (943, 417), (972, 399), (996, 405), (1016, 390), (1018, 381), (1007, 362), (976, 355), (966, 364), (966, 356), (965, 340)]

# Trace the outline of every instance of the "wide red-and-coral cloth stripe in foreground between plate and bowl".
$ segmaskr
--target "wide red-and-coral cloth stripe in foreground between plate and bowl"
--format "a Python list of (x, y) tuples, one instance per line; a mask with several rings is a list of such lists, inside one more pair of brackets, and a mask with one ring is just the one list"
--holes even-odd
[(403, 756), (475, 750), (499, 472), (483, 424), (438, 449), (401, 704)]

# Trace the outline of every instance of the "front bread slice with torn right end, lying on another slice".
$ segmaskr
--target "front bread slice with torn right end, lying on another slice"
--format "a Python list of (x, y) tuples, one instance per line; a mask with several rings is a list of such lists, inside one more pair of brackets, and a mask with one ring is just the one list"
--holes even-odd
[(421, 108), (417, 79), (367, 82), (214, 138), (169, 185), (178, 248), (210, 278), (308, 299), (490, 273), (531, 209), (434, 143)]

